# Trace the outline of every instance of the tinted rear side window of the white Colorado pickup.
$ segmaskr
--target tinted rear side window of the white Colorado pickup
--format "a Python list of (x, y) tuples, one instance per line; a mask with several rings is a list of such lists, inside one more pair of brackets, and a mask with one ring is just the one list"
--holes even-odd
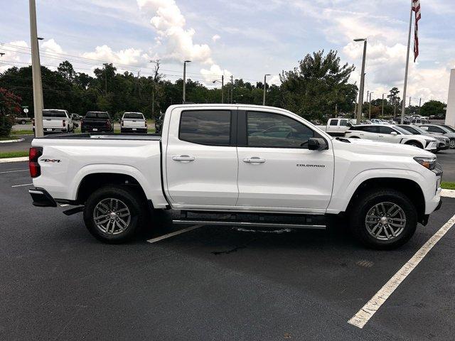
[(181, 113), (178, 139), (209, 146), (230, 145), (229, 110), (191, 110)]

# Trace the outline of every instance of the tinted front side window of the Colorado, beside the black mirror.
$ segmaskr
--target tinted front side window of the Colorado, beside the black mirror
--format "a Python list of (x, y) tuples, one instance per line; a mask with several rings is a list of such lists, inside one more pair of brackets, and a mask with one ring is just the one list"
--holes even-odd
[[(247, 112), (247, 146), (306, 148), (315, 133), (290, 117), (270, 112)], [(319, 135), (317, 137), (320, 137)]]

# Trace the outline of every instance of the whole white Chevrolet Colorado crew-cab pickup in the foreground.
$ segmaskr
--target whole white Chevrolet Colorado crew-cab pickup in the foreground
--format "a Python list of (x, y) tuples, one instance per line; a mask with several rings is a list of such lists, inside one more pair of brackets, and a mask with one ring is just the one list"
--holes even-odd
[(274, 107), (173, 105), (161, 135), (46, 136), (33, 139), (29, 165), (33, 205), (78, 205), (67, 214), (83, 210), (111, 243), (173, 209), (174, 223), (247, 227), (323, 228), (346, 215), (363, 244), (391, 249), (441, 205), (434, 154), (333, 139)]

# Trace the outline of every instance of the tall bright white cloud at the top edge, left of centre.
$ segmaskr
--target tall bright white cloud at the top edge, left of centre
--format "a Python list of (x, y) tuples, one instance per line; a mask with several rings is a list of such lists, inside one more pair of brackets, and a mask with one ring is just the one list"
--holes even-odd
[(174, 0), (137, 0), (139, 8), (147, 13), (153, 13), (151, 26), (158, 33), (157, 42), (165, 43), (166, 54), (164, 61), (193, 60), (211, 64), (211, 50), (207, 44), (196, 44), (193, 36), (196, 31), (186, 28), (186, 20)]

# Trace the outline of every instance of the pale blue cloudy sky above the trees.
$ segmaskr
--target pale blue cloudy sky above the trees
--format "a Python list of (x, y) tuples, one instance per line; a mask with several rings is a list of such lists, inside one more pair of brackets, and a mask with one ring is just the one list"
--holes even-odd
[[(454, 0), (420, 0), (419, 57), (410, 58), (411, 104), (447, 100), (455, 67)], [(28, 1), (0, 0), (0, 72), (31, 63)], [(367, 38), (366, 91), (372, 99), (398, 87), (405, 76), (410, 1), (406, 0), (36, 0), (41, 64), (70, 60), (79, 72), (102, 63), (118, 72), (150, 75), (161, 60), (169, 80), (187, 74), (208, 87), (225, 75), (279, 84), (279, 73), (307, 53), (338, 50), (360, 80)], [(5, 15), (6, 14), (6, 15)], [(412, 40), (411, 40), (412, 43)], [(412, 55), (412, 45), (411, 45)], [(407, 98), (409, 102), (409, 98)]]

